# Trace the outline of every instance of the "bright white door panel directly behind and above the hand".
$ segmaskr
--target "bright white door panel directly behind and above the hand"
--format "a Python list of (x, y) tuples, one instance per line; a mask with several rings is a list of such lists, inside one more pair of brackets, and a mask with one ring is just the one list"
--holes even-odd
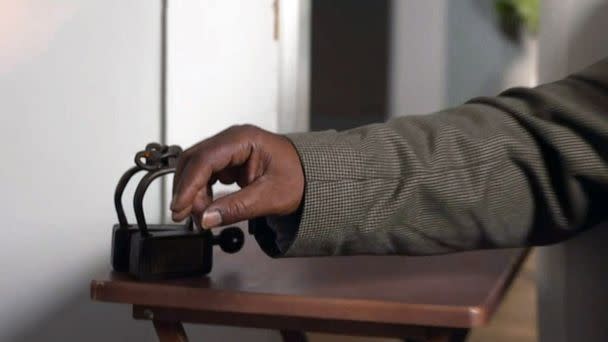
[(168, 22), (167, 142), (188, 147), (244, 123), (276, 131), (273, 0), (169, 2)]

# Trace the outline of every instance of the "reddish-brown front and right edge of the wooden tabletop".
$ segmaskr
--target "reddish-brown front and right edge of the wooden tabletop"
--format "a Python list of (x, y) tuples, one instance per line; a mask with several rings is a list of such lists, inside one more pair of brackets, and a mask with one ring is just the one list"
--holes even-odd
[[(408, 304), (380, 299), (310, 297), (188, 287), (174, 288), (173, 291), (182, 292), (180, 296), (190, 296), (193, 304), (176, 305), (171, 298), (163, 295), (163, 288), (171, 287), (170, 285), (155, 284), (150, 287), (146, 283), (121, 280), (92, 280), (90, 296), (93, 301), (172, 309), (203, 310), (194, 303), (204, 302), (204, 310), (212, 312), (472, 328), (483, 326), (492, 318), (527, 255), (527, 249), (517, 253), (510, 263), (509, 271), (504, 272), (501, 281), (497, 282), (486, 300), (472, 306)], [(143, 292), (147, 293), (145, 300), (137, 296)], [(403, 319), (404, 317), (408, 319)]]

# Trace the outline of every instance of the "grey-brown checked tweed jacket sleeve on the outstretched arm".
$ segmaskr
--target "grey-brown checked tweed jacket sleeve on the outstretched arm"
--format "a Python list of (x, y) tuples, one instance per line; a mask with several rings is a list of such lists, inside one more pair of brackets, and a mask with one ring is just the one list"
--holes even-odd
[(608, 218), (608, 59), (430, 115), (289, 138), (302, 208), (278, 234), (251, 222), (272, 256), (540, 245)]

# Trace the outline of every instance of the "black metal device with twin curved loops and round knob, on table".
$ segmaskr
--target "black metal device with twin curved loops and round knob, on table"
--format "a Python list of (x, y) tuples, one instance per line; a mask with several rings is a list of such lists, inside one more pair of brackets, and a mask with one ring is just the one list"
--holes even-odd
[[(146, 190), (157, 178), (175, 172), (182, 153), (179, 146), (151, 143), (135, 155), (135, 166), (118, 181), (114, 206), (118, 224), (112, 230), (112, 267), (128, 272), (141, 280), (205, 275), (213, 265), (213, 246), (226, 253), (238, 252), (244, 234), (238, 227), (223, 229), (217, 236), (210, 230), (196, 230), (192, 220), (180, 224), (147, 224), (143, 210)], [(147, 173), (140, 180), (133, 196), (137, 224), (129, 224), (122, 206), (122, 195), (131, 178), (140, 171)]]

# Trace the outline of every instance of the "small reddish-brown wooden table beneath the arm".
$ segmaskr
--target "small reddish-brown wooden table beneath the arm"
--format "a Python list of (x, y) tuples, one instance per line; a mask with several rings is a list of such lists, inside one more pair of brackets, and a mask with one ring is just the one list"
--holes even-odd
[(214, 253), (207, 277), (109, 273), (91, 282), (91, 298), (133, 305), (161, 341), (186, 341), (182, 322), (276, 329), (284, 341), (306, 341), (305, 331), (463, 341), (491, 318), (526, 255), (271, 259), (251, 236), (237, 254)]

